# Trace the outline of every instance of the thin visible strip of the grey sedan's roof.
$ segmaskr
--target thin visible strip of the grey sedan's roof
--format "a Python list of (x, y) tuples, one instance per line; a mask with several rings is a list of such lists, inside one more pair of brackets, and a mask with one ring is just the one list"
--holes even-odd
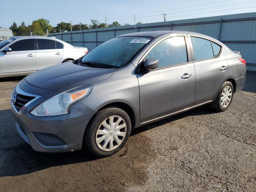
[(135, 32), (135, 33), (123, 34), (117, 37), (125, 37), (125, 36), (156, 37), (156, 36), (166, 36), (170, 34), (195, 34), (195, 35), (208, 37), (207, 35), (190, 32), (190, 31), (147, 31), (147, 32)]

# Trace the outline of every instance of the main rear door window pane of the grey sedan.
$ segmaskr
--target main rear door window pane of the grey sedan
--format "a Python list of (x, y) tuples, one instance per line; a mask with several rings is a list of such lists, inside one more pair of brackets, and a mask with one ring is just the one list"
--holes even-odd
[(209, 40), (191, 37), (191, 41), (196, 61), (214, 57), (212, 52), (212, 44)]

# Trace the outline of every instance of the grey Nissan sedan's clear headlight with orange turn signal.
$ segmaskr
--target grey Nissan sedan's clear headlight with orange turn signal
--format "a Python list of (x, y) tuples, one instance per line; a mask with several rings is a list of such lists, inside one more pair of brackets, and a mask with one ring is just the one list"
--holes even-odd
[(68, 114), (72, 104), (90, 94), (92, 86), (83, 85), (61, 92), (38, 105), (31, 112), (34, 116), (56, 116)]

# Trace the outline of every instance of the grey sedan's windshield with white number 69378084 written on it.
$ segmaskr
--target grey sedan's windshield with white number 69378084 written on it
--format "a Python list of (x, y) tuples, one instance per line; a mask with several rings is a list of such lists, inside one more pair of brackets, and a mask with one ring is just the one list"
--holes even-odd
[(117, 37), (112, 38), (86, 54), (82, 64), (97, 64), (102, 68), (125, 66), (152, 38)]

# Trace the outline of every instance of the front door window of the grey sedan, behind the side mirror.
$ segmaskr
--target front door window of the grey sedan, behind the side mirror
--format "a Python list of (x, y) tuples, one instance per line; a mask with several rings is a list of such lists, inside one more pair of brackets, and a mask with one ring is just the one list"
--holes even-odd
[(172, 37), (160, 42), (146, 58), (158, 59), (158, 68), (188, 62), (184, 36)]

